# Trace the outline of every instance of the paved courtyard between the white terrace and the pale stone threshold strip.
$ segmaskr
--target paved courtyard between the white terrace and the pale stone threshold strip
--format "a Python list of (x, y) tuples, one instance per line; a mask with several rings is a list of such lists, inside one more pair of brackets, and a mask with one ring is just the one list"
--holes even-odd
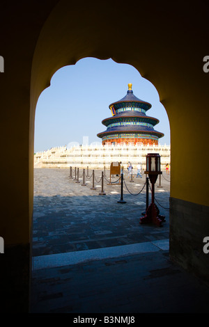
[[(89, 177), (92, 171), (88, 173)], [(144, 241), (169, 238), (169, 210), (159, 207), (166, 216), (163, 227), (139, 225), (141, 213), (146, 210), (145, 175), (134, 178), (125, 175), (123, 199), (120, 185), (107, 185), (109, 172), (104, 180), (105, 196), (100, 196), (101, 181), (91, 190), (92, 177), (86, 178), (86, 186), (69, 179), (68, 169), (35, 169), (33, 209), (33, 256), (49, 255), (76, 250), (104, 248)], [(101, 179), (95, 170), (95, 179)], [(169, 178), (166, 176), (167, 180)], [(114, 178), (114, 181), (117, 177)], [(169, 182), (162, 178), (163, 188), (155, 187), (155, 198), (160, 205), (169, 208)], [(113, 181), (113, 179), (111, 179)], [(150, 191), (149, 191), (150, 193)]]

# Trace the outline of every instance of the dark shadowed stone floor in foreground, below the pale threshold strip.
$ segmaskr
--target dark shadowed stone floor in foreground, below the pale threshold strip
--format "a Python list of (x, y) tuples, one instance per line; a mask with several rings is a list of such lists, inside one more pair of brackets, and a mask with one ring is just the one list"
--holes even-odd
[(168, 251), (160, 251), (35, 271), (31, 308), (72, 317), (208, 313), (208, 295), (201, 282), (169, 261)]

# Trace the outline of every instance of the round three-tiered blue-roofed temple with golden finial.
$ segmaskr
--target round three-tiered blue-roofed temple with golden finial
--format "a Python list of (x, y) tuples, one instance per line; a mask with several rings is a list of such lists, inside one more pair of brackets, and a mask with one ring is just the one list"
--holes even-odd
[(159, 120), (146, 115), (151, 104), (135, 97), (132, 83), (128, 84), (127, 95), (109, 105), (112, 117), (102, 120), (106, 131), (98, 133), (102, 145), (158, 145), (158, 139), (164, 136), (153, 128)]

